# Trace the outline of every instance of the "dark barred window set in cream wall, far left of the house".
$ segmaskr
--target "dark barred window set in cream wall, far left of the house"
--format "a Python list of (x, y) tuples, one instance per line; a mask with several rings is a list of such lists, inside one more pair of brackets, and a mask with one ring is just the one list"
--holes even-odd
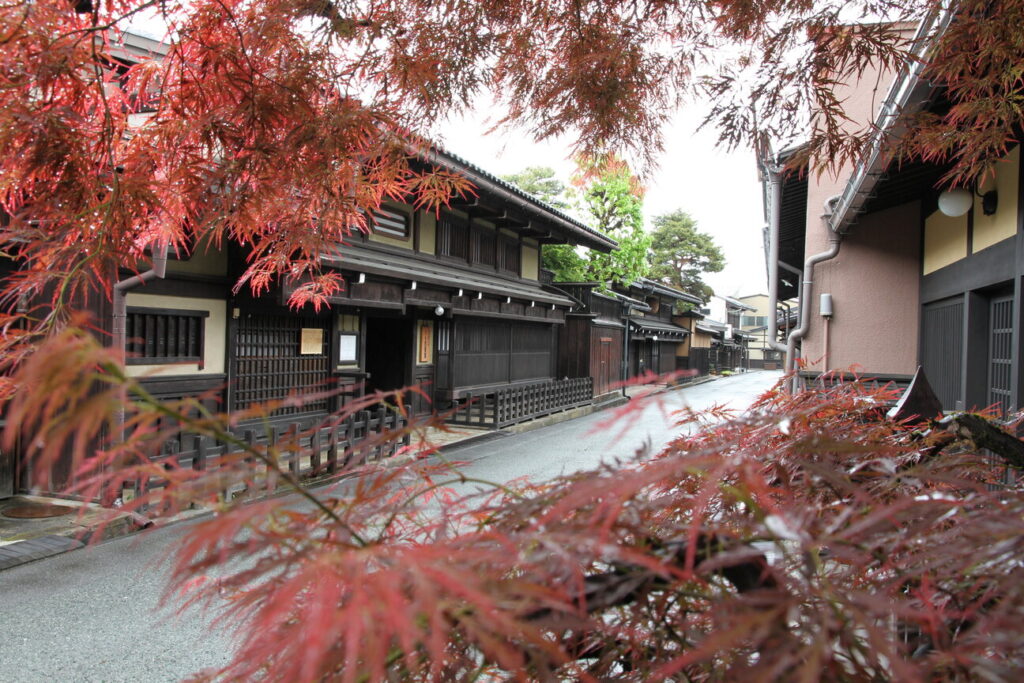
[(130, 366), (196, 362), (203, 368), (207, 310), (129, 308), (125, 338)]

